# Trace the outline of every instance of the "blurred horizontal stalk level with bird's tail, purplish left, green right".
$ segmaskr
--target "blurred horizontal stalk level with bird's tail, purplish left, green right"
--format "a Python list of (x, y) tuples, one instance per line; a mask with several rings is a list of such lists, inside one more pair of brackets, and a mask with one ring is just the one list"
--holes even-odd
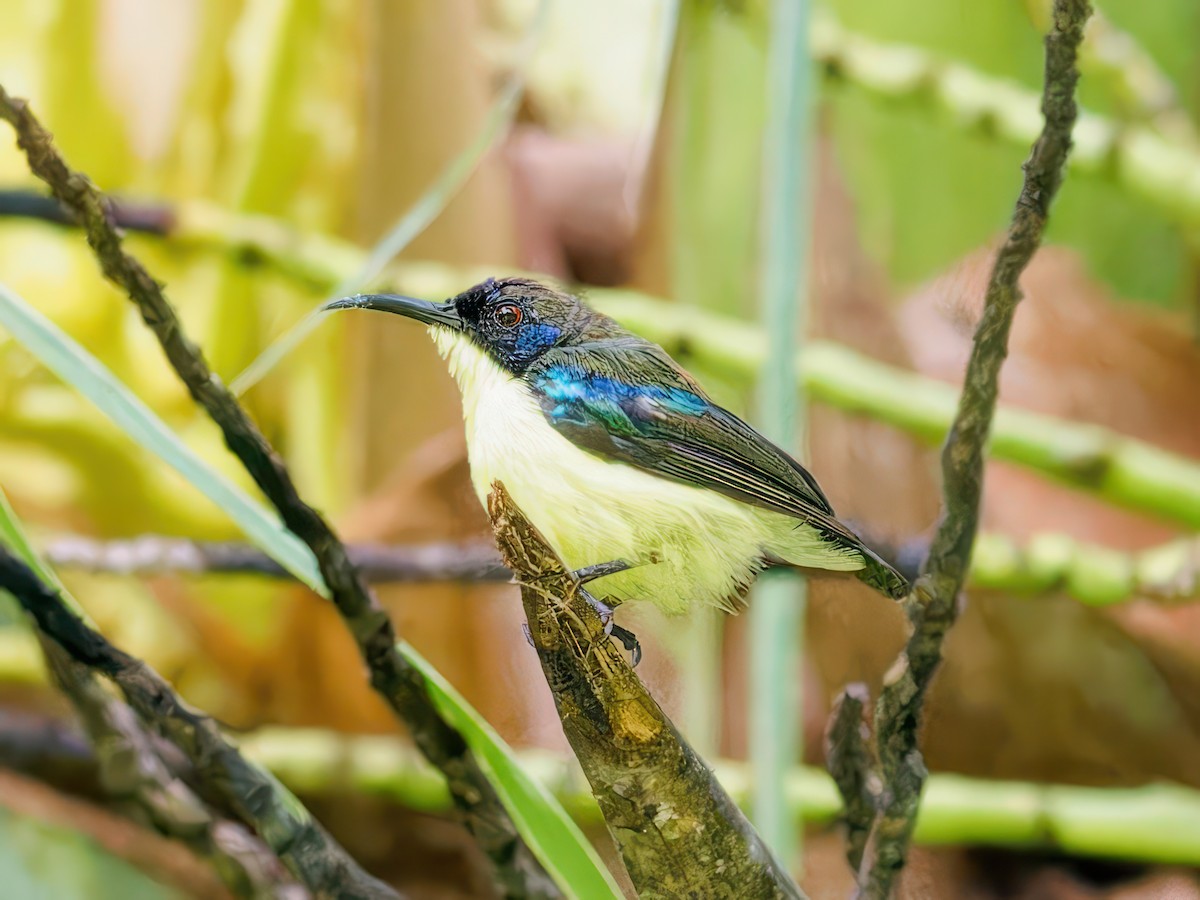
[[(895, 545), (872, 538), (866, 529), (859, 533), (868, 546), (908, 578), (917, 577), (920, 562), (929, 554), (929, 542), (924, 540)], [(506, 582), (512, 577), (496, 550), (482, 541), (352, 544), (347, 552), (362, 578), (372, 584)], [(106, 541), (70, 535), (50, 540), (42, 553), (56, 568), (114, 575), (292, 577), (260, 550), (226, 541), (162, 535)], [(1021, 595), (1063, 593), (1088, 606), (1184, 602), (1200, 598), (1200, 538), (1124, 553), (1066, 534), (1036, 534), (1026, 544), (1018, 544), (984, 532), (976, 538), (967, 584)]]

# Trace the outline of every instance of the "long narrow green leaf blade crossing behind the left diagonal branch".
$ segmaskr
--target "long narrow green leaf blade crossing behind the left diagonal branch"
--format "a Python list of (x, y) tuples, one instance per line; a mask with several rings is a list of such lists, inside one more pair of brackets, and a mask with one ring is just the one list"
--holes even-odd
[[(264, 553), (313, 590), (329, 595), (312, 553), (272, 512), (209, 468), (103, 364), (4, 284), (0, 284), (0, 325), (133, 440), (217, 503)], [(0, 520), (6, 518), (10, 517), (0, 512)], [(0, 524), (0, 535), (13, 533), (17, 534), (14, 546), (28, 550), (28, 541), (12, 521)], [(620, 898), (620, 889), (588, 839), (558, 800), (521, 768), (512, 749), (420, 654), (403, 641), (397, 649), (425, 677), (439, 710), (462, 732), (521, 836), (563, 893), (578, 898)]]

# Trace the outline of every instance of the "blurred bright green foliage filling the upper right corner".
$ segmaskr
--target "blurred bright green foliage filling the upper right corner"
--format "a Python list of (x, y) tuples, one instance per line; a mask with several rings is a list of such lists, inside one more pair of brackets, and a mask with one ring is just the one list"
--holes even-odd
[[(918, 11), (894, 0), (829, 0), (828, 7), (853, 31), (923, 48), (1030, 89), (1040, 84), (1048, 4), (926, 0)], [(1184, 102), (1194, 104), (1200, 7), (1190, 0), (1115, 0), (1102, 8), (1144, 42)], [(1096, 65), (1085, 66), (1080, 97), (1085, 109), (1129, 120), (1120, 85)], [(966, 134), (953, 114), (924, 100), (900, 104), (850, 86), (827, 101), (864, 240), (896, 281), (931, 277), (998, 238), (1027, 148)], [(1050, 242), (1079, 250), (1117, 295), (1164, 306), (1189, 301), (1195, 254), (1186, 238), (1162, 210), (1102, 178), (1078, 179), (1063, 191), (1048, 232)]]

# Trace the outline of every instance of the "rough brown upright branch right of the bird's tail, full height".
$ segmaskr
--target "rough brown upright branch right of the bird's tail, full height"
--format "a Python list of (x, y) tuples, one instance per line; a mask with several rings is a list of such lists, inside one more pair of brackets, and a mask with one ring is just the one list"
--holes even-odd
[(1055, 0), (1052, 14), (1054, 25), (1045, 41), (1042, 102), (1045, 125), (1024, 167), (1025, 182), (1008, 236), (996, 254), (959, 409), (942, 451), (944, 512), (924, 572), (907, 602), (913, 634), (876, 704), (882, 805), (859, 870), (859, 890), (878, 900), (890, 896), (907, 858), (925, 782), (925, 763), (918, 746), (920, 714), (971, 563), (983, 493), (984, 445), (996, 410), (1008, 334), (1021, 299), (1018, 281), (1042, 242), (1050, 203), (1062, 182), (1070, 150), (1079, 80), (1076, 56), (1091, 4)]

